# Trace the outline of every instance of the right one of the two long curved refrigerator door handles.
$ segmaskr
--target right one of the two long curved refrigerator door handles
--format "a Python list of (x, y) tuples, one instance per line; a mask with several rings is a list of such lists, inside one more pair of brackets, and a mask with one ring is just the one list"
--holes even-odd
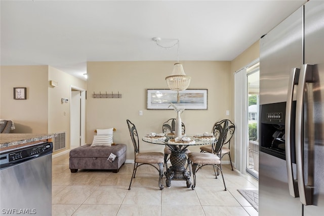
[[(301, 67), (296, 102), (296, 168), (297, 168), (297, 181), (300, 201), (304, 205), (312, 204), (312, 188), (304, 183), (304, 169), (303, 169), (303, 104), (305, 85), (308, 80), (311, 80), (312, 65), (304, 64)], [(310, 82), (310, 81), (309, 81)]]

